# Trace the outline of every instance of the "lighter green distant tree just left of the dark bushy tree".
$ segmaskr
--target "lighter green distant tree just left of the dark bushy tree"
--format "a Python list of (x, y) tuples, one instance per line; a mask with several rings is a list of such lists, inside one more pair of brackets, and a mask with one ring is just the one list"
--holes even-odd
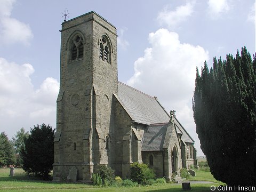
[(28, 137), (28, 132), (25, 131), (25, 129), (22, 127), (19, 131), (17, 131), (17, 133), (15, 134), (15, 138), (12, 138), (12, 142), (14, 145), (14, 150), (15, 150), (15, 155), (17, 158), (16, 161), (16, 166), (21, 166), (22, 162), (21, 162), (21, 157), (20, 157), (20, 153), (21, 153), (21, 148), (24, 148), (24, 138)]

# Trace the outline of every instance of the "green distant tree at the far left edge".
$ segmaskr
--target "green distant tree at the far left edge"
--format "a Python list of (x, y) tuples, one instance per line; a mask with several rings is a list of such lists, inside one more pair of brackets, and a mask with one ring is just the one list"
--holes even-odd
[(0, 134), (0, 166), (9, 166), (15, 164), (14, 148), (7, 135)]

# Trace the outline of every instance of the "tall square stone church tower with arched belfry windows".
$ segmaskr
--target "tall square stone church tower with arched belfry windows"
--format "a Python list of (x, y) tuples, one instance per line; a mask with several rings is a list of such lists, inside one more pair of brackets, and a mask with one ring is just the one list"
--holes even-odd
[(116, 28), (95, 12), (63, 22), (53, 180), (77, 170), (87, 181), (95, 165), (114, 162), (117, 93)]

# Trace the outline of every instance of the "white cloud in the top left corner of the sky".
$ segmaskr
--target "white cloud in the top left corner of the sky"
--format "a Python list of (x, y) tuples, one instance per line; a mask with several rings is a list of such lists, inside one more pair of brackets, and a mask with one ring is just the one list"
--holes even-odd
[(29, 25), (11, 18), (11, 11), (15, 0), (1, 0), (0, 7), (0, 41), (4, 44), (21, 42), (29, 44), (33, 33)]

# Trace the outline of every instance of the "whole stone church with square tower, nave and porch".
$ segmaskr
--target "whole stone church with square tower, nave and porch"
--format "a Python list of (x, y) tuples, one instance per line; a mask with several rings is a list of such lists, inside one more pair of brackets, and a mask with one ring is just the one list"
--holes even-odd
[(171, 180), (197, 165), (194, 140), (156, 97), (118, 82), (116, 28), (89, 12), (64, 21), (53, 180), (90, 181), (97, 165), (130, 177), (133, 162)]

